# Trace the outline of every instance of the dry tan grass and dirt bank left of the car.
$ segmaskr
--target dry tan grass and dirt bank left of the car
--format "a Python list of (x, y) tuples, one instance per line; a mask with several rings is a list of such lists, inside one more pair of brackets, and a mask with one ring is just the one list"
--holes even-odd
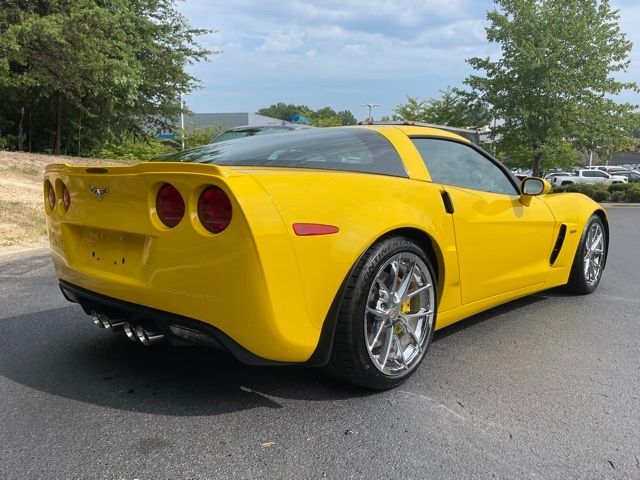
[(46, 244), (42, 178), (50, 163), (122, 165), (113, 160), (0, 150), (0, 251)]

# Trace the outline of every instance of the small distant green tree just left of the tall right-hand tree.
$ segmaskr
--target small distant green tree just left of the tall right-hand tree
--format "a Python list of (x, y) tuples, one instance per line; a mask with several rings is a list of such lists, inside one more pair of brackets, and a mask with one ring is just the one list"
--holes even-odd
[(439, 98), (422, 101), (407, 97), (406, 103), (394, 109), (394, 119), (476, 130), (486, 128), (490, 123), (491, 115), (481, 102), (470, 102), (451, 88), (441, 90), (440, 93), (442, 96)]

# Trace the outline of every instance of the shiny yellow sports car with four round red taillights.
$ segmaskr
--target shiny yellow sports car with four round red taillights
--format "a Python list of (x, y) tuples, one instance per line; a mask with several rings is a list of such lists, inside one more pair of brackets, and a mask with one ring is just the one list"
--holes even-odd
[(98, 326), (385, 389), (434, 330), (597, 287), (607, 216), (549, 188), (450, 130), (365, 125), (49, 165), (44, 200), (62, 292)]

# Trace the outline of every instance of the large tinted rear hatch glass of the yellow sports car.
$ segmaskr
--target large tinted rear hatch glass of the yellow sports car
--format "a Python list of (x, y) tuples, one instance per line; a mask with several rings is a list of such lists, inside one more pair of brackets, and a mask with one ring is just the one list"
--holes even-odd
[(319, 128), (284, 135), (256, 135), (204, 145), (155, 161), (315, 168), (407, 176), (398, 153), (384, 136), (358, 128)]

